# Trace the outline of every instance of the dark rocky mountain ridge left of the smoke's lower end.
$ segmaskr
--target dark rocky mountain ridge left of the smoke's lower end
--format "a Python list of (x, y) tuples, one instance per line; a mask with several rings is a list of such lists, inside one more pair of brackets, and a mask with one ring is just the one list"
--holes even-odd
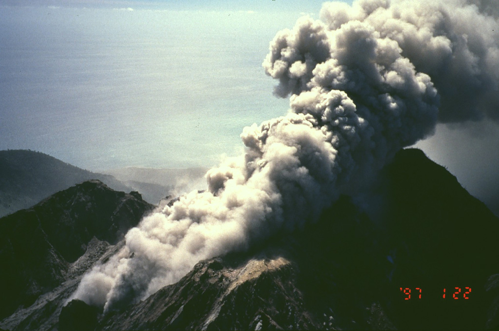
[(73, 186), (0, 219), (0, 319), (67, 278), (92, 238), (116, 244), (152, 205), (99, 181)]

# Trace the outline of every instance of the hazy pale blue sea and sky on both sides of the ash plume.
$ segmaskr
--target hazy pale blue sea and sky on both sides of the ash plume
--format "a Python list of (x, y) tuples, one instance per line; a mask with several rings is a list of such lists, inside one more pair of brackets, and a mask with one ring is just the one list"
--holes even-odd
[[(321, 2), (2, 1), (0, 149), (93, 171), (217, 165), (286, 113), (261, 63)], [(497, 124), (439, 124), (416, 147), (499, 209)]]

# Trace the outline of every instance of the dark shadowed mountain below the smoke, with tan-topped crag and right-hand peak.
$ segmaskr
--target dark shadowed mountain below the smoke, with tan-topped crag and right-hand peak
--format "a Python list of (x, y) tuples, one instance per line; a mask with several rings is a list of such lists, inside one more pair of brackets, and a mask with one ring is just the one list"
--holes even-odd
[[(201, 262), (179, 283), (102, 317), (97, 330), (462, 330), (497, 324), (486, 316), (489, 311), (497, 319), (485, 286), (499, 273), (493, 240), (499, 220), (445, 168), (419, 150), (401, 151), (363, 199), (366, 212), (356, 201), (342, 197), (318, 223), (251, 252)], [(404, 300), (400, 287), (422, 288), (422, 299), (413, 294)], [(460, 295), (471, 287), (471, 299), (453, 299), (455, 287), (463, 289)]]

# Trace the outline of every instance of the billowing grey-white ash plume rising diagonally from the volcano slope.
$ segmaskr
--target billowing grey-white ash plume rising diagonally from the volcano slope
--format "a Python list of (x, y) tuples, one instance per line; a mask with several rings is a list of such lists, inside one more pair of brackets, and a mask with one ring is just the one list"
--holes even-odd
[(202, 259), (313, 222), (438, 119), (498, 118), (497, 8), (481, 8), (333, 2), (322, 21), (279, 32), (263, 66), (289, 112), (245, 128), (244, 155), (208, 171), (207, 191), (145, 217), (73, 298), (106, 311), (144, 299)]

